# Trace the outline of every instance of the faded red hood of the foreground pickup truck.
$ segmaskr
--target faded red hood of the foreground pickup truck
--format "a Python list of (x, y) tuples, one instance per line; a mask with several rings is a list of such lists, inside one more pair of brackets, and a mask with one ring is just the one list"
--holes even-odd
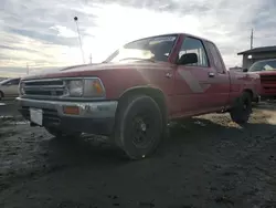
[(98, 75), (100, 71), (108, 70), (144, 70), (144, 69), (160, 69), (169, 67), (171, 63), (169, 62), (121, 62), (121, 63), (95, 63), (95, 64), (83, 64), (83, 65), (73, 65), (67, 67), (60, 67), (55, 70), (45, 70), (40, 73), (29, 75), (23, 77), (23, 80), (33, 80), (33, 79), (44, 79), (44, 77), (64, 77), (64, 76), (88, 76), (88, 75)]

